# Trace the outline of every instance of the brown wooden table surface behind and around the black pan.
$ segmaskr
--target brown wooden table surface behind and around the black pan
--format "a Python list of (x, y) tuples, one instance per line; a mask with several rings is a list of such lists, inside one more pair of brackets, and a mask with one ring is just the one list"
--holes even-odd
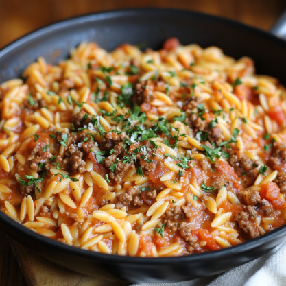
[[(132, 7), (195, 10), (270, 29), (286, 9), (285, 0), (0, 0), (0, 48), (49, 23), (71, 16)], [(27, 285), (5, 235), (0, 230), (0, 286)]]

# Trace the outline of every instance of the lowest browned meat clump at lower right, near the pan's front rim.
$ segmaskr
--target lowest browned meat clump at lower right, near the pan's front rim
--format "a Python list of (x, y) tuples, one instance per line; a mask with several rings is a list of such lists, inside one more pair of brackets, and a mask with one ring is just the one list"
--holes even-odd
[(241, 211), (235, 217), (235, 220), (239, 224), (239, 228), (243, 230), (243, 233), (246, 234), (247, 238), (255, 238), (260, 236), (259, 230), (255, 224), (255, 215), (257, 215), (257, 211), (255, 211), (254, 207), (248, 206), (247, 212)]

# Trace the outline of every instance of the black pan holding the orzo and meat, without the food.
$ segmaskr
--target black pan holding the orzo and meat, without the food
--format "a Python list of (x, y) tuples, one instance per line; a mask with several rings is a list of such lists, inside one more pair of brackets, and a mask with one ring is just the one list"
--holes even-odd
[[(250, 56), (258, 73), (286, 83), (286, 43), (246, 25), (196, 12), (136, 9), (103, 12), (69, 19), (39, 29), (0, 51), (0, 82), (21, 77), (38, 56), (56, 63), (82, 41), (112, 50), (121, 43), (145, 43), (158, 49), (176, 36), (184, 45), (217, 45), (235, 58)], [(218, 274), (260, 257), (282, 243), (286, 226), (239, 246), (185, 257), (120, 257), (82, 250), (53, 241), (21, 226), (0, 212), (0, 227), (10, 237), (43, 257), (82, 274), (133, 283), (186, 281)]]

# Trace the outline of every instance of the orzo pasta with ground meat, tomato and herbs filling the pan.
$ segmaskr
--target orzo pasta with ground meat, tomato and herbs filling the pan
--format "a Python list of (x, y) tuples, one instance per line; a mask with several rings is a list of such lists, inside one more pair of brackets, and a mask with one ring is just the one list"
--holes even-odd
[(0, 85), (0, 208), (106, 254), (218, 250), (286, 222), (286, 93), (217, 47), (82, 43)]

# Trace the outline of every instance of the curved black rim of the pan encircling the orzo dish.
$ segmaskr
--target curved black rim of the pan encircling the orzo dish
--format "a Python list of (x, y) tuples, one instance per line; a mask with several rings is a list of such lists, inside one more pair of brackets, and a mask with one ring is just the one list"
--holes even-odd
[[(269, 38), (269, 40), (276, 41), (278, 44), (283, 45), (286, 49), (285, 40), (277, 38), (276, 36), (268, 32), (265, 32), (261, 29), (257, 29), (256, 27), (250, 27), (249, 25), (240, 23), (238, 21), (226, 19), (223, 17), (213, 16), (202, 12), (195, 12), (191, 10), (180, 10), (175, 8), (127, 8), (119, 10), (107, 10), (104, 12), (96, 12), (91, 14), (83, 14), (80, 16), (71, 17), (69, 19), (64, 19), (62, 21), (57, 21), (55, 23), (35, 29), (34, 31), (25, 34), (21, 38), (17, 38), (16, 40), (12, 41), (12, 43), (9, 43), (8, 45), (5, 45), (2, 49), (0, 49), (0, 60), (3, 56), (5, 56), (5, 54), (9, 53), (13, 49), (21, 47), (21, 45), (24, 45), (25, 43), (29, 44), (29, 41), (39, 36), (43, 36), (44, 34), (47, 34), (48, 36), (48, 34), (53, 33), (58, 29), (70, 28), (73, 25), (79, 25), (81, 23), (88, 23), (102, 19), (116, 19), (122, 16), (134, 16), (136, 14), (143, 14), (143, 13), (157, 14), (158, 12), (160, 12), (161, 14), (162, 13), (171, 14), (173, 16), (176, 14), (184, 14), (185, 16), (203, 17), (208, 21), (215, 21), (223, 25), (231, 25), (234, 28), (241, 30), (248, 30), (249, 32), (263, 36), (264, 38)], [(191, 262), (191, 261), (202, 262), (210, 259), (222, 259), (224, 257), (229, 257), (234, 254), (246, 252), (248, 250), (252, 250), (253, 248), (257, 248), (262, 244), (267, 243), (267, 241), (275, 239), (276, 235), (282, 235), (283, 233), (286, 233), (286, 224), (285, 224), (283, 226), (276, 228), (275, 230), (270, 231), (270, 233), (261, 235), (261, 237), (250, 239), (236, 246), (231, 246), (230, 248), (222, 248), (220, 250), (211, 250), (208, 252), (189, 254), (178, 257), (130, 257), (130, 256), (120, 256), (118, 254), (103, 254), (100, 252), (93, 252), (91, 250), (83, 250), (82, 248), (69, 246), (60, 241), (49, 239), (49, 237), (45, 237), (38, 233), (34, 233), (32, 230), (29, 230), (29, 228), (26, 228), (25, 226), (14, 221), (14, 219), (9, 217), (8, 215), (5, 215), (5, 213), (3, 213), (2, 211), (0, 211), (0, 225), (1, 224), (4, 224), (6, 228), (14, 228), (14, 230), (16, 230), (17, 233), (19, 233), (19, 239), (18, 237), (16, 239), (12, 237), (16, 241), (19, 241), (19, 243), (21, 243), (20, 242), (21, 235), (23, 235), (27, 238), (37, 241), (38, 243), (43, 243), (43, 245), (49, 245), (53, 247), (55, 250), (60, 250), (60, 252), (68, 252), (71, 255), (82, 257), (84, 259), (93, 259), (95, 261), (100, 259), (100, 261), (103, 263), (120, 262), (124, 264), (148, 264), (148, 265), (149, 264), (157, 265), (158, 263), (162, 265), (169, 265), (171, 263), (176, 263), (176, 262), (180, 263)]]

